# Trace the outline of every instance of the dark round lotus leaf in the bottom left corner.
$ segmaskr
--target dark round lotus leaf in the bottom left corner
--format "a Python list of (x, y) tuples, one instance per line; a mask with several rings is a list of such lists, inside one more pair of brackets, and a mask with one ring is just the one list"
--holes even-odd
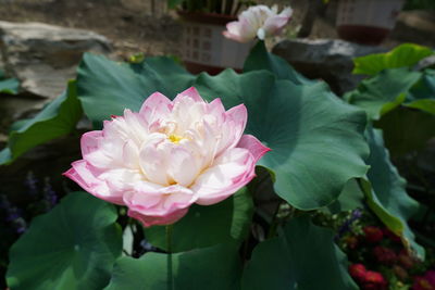
[(72, 192), (36, 217), (12, 245), (7, 281), (11, 289), (99, 290), (122, 251), (112, 204)]

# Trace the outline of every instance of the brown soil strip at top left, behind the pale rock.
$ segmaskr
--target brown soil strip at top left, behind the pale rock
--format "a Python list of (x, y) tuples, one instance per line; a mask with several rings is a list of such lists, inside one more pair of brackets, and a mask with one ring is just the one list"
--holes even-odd
[[(152, 4), (154, 3), (154, 4)], [(181, 26), (165, 0), (0, 0), (0, 21), (42, 22), (94, 30), (121, 59), (179, 55)]]

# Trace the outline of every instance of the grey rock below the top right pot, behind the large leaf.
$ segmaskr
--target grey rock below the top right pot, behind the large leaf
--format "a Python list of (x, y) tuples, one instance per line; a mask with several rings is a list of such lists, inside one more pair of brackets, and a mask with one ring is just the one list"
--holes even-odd
[(325, 80), (338, 94), (356, 88), (362, 79), (351, 74), (353, 58), (385, 51), (385, 48), (338, 39), (287, 39), (273, 48), (273, 53), (285, 59), (298, 72), (308, 78)]

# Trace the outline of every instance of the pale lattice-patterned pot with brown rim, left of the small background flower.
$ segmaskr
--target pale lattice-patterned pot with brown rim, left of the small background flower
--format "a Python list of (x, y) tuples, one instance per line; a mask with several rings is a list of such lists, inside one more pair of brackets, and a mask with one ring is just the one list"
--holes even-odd
[(183, 20), (183, 61), (190, 73), (219, 74), (231, 67), (241, 72), (253, 41), (239, 43), (222, 35), (236, 18), (211, 13), (178, 12)]

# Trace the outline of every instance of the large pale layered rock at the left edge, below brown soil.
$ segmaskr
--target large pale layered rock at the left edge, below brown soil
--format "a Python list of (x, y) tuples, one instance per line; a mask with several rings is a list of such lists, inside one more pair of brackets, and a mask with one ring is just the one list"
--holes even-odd
[(111, 48), (105, 37), (88, 30), (0, 22), (0, 51), (24, 90), (52, 99), (75, 77), (84, 52), (109, 53)]

